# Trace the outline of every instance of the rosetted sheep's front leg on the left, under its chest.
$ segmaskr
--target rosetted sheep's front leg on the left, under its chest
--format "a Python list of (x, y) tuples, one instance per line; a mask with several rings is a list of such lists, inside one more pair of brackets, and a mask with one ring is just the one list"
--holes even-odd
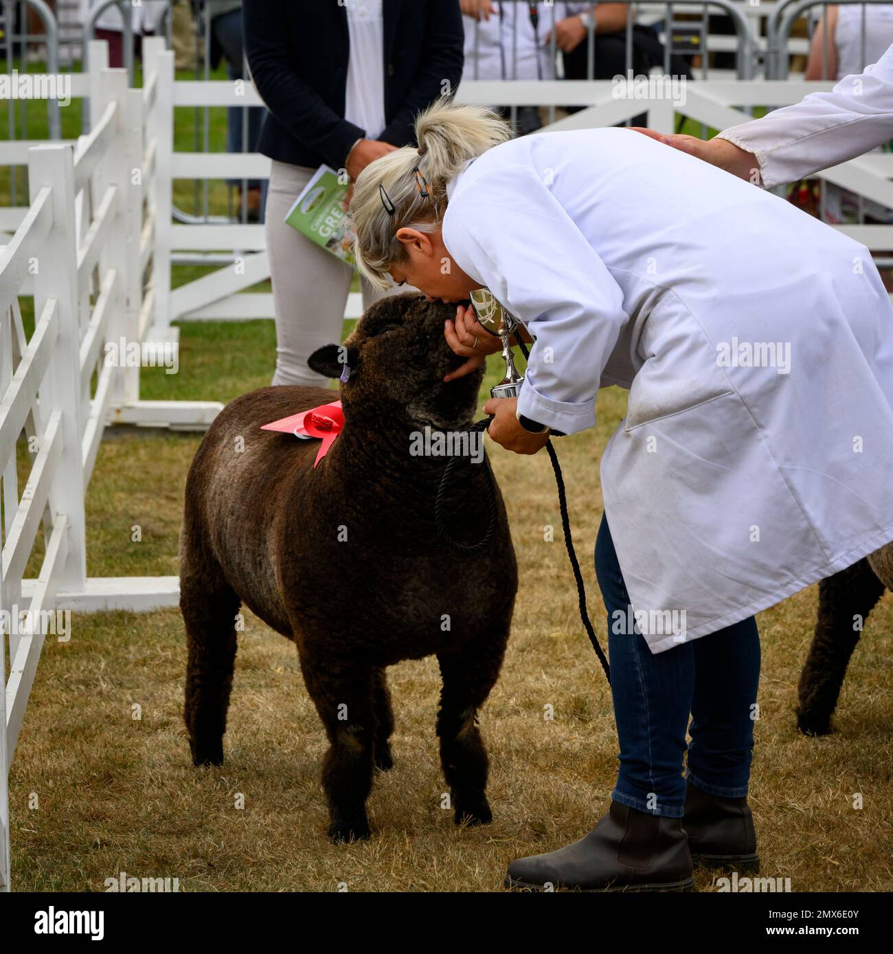
[(372, 669), (338, 667), (303, 656), (301, 668), (329, 736), (323, 760), (329, 836), (339, 842), (369, 838), (366, 799), (372, 790), (375, 729)]

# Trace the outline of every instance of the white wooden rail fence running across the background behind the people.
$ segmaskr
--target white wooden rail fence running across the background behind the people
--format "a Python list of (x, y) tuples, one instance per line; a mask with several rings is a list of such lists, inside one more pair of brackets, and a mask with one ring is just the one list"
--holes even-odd
[[(463, 82), (457, 99), (472, 103), (500, 103), (511, 106), (584, 106), (544, 128), (549, 130), (610, 126), (647, 113), (648, 125), (671, 133), (678, 115), (704, 126), (724, 129), (751, 118), (755, 106), (778, 107), (798, 102), (808, 93), (830, 90), (831, 82), (785, 81), (692, 81), (685, 86), (685, 99), (675, 105), (670, 98), (617, 98), (611, 81), (543, 80), (535, 82)], [(237, 93), (231, 82), (175, 82), (172, 67), (159, 73), (159, 98), (165, 109), (173, 106), (255, 106), (262, 101), (253, 87)], [(633, 135), (633, 134), (630, 134)], [(269, 160), (257, 154), (180, 153), (173, 151), (169, 138), (159, 141), (159, 192), (169, 195), (174, 179), (264, 178)], [(819, 174), (829, 182), (844, 186), (866, 198), (893, 208), (893, 156), (871, 155), (853, 159)], [(158, 324), (154, 334), (164, 337), (171, 321), (245, 321), (273, 317), (272, 295), (245, 289), (269, 278), (266, 236), (263, 225), (178, 224), (166, 215), (158, 216), (159, 244), (156, 254), (164, 257), (169, 274), (169, 256), (176, 252), (230, 253), (232, 262), (214, 272), (181, 285), (168, 293), (159, 283)], [(859, 239), (873, 250), (893, 248), (893, 226), (841, 226), (840, 230)], [(160, 296), (169, 298), (161, 301)], [(362, 312), (359, 294), (348, 299), (346, 318)]]

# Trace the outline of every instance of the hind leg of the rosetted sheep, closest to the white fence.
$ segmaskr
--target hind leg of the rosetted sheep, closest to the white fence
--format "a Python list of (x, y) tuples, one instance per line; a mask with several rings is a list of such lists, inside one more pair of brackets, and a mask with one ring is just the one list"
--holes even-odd
[(186, 624), (186, 693), (183, 717), (196, 765), (223, 764), (226, 710), (236, 662), (239, 597), (225, 584), (210, 586), (207, 575), (181, 582)]

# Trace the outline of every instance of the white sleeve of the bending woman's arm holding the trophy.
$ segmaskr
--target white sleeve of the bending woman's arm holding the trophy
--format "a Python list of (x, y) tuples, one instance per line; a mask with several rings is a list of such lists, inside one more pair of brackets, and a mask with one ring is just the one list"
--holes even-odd
[(540, 176), (526, 166), (480, 176), (451, 201), (443, 240), (534, 339), (519, 413), (565, 434), (594, 425), (627, 321), (623, 292)]

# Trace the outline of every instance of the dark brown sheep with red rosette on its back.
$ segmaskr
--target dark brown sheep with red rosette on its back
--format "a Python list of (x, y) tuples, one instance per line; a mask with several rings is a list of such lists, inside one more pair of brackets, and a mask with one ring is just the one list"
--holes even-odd
[[(414, 432), (472, 423), (482, 371), (444, 384), (463, 359), (443, 339), (453, 309), (418, 295), (378, 301), (344, 346), (309, 364), (338, 378), (345, 425), (319, 442), (261, 425), (336, 400), (325, 388), (265, 387), (228, 404), (189, 471), (181, 536), (188, 661), (184, 717), (193, 761), (221, 764), (241, 603), (297, 644), (329, 736), (330, 836), (370, 834), (373, 767), (391, 768), (385, 667), (436, 654), (436, 732), (457, 823), (491, 819), (478, 709), (500, 673), (518, 572), (499, 488), (496, 531), (459, 554), (438, 537), (435, 496), (449, 458), (414, 456)], [(339, 360), (341, 359), (341, 360)], [(487, 526), (490, 464), (462, 462), (445, 499), (450, 533)]]

